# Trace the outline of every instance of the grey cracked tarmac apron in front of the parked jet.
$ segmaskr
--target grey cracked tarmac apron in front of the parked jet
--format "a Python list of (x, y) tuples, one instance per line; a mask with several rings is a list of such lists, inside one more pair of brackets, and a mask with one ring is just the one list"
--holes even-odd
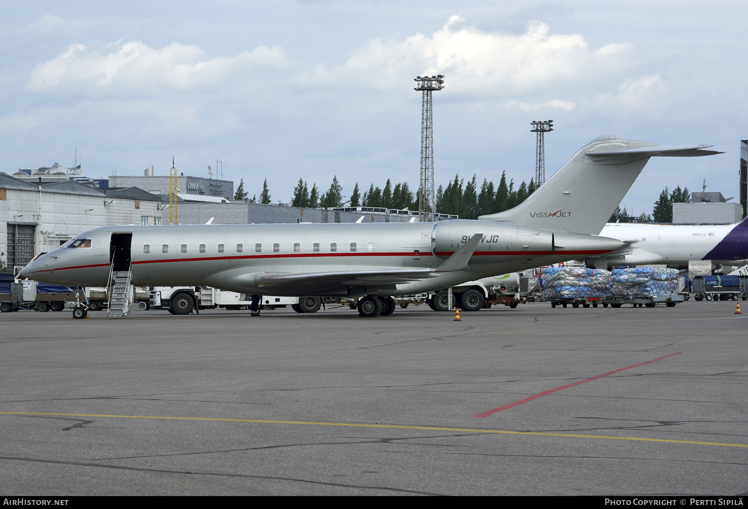
[(748, 309), (734, 313), (3, 313), (0, 492), (743, 494)]

